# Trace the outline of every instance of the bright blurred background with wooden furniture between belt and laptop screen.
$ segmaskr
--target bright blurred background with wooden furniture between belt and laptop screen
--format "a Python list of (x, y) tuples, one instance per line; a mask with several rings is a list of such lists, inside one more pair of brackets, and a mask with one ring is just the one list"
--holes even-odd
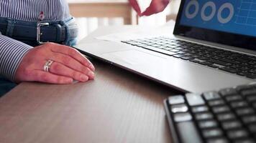
[[(175, 20), (180, 0), (172, 0), (160, 14), (138, 17), (127, 0), (67, 0), (70, 13), (76, 17), (79, 26), (78, 40), (94, 31), (99, 26), (145, 25), (162, 26), (167, 21)], [(142, 11), (151, 0), (138, 0)]]

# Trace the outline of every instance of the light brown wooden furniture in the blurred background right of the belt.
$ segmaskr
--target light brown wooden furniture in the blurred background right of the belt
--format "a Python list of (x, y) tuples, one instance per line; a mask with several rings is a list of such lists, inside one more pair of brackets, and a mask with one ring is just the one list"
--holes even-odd
[(137, 24), (137, 14), (127, 0), (68, 0), (75, 17), (122, 17), (124, 24)]

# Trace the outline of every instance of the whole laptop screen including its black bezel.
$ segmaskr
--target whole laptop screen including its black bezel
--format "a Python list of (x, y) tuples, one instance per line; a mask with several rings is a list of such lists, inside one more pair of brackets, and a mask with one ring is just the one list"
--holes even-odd
[(174, 34), (256, 49), (255, 0), (182, 0)]

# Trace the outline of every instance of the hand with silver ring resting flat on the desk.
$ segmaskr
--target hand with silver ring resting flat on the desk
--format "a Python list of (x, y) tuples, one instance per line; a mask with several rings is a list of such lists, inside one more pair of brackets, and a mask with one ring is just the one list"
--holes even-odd
[(76, 49), (47, 43), (28, 51), (19, 64), (15, 82), (87, 82), (94, 78), (94, 70), (93, 64)]

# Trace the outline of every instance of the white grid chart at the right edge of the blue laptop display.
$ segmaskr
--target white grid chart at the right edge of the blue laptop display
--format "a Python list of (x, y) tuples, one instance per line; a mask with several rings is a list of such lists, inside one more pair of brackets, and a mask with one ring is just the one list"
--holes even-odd
[(235, 24), (256, 26), (256, 1), (242, 0), (236, 17)]

